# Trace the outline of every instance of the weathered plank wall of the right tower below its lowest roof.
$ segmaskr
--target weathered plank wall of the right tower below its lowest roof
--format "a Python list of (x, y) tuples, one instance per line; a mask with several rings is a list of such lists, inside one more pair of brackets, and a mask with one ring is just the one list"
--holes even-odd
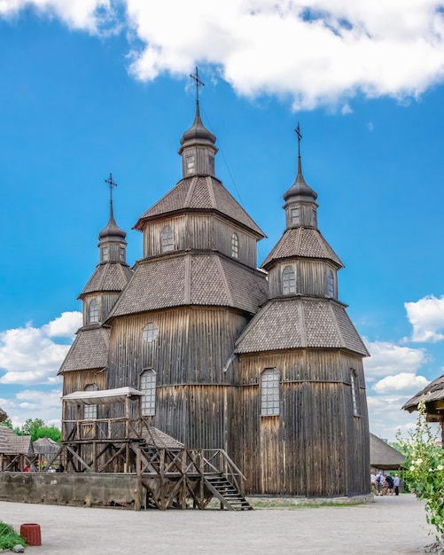
[[(280, 414), (261, 416), (261, 371), (274, 367), (281, 372)], [(351, 367), (361, 372), (362, 418), (353, 416)], [(360, 359), (327, 350), (242, 356), (239, 376), (232, 457), (247, 476), (248, 491), (368, 493), (368, 472), (361, 470), (370, 469), (370, 454)]]

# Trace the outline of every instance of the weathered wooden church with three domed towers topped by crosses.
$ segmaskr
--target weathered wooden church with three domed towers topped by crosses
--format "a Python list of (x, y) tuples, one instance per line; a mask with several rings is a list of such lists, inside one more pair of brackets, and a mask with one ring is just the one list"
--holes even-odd
[(144, 252), (133, 268), (111, 197), (79, 297), (83, 325), (59, 370), (62, 439), (95, 421), (131, 434), (139, 410), (178, 445), (224, 449), (247, 493), (367, 494), (368, 352), (339, 301), (343, 264), (318, 229), (300, 155), (284, 233), (258, 269), (265, 235), (216, 177), (215, 141), (198, 96), (182, 178), (137, 220)]

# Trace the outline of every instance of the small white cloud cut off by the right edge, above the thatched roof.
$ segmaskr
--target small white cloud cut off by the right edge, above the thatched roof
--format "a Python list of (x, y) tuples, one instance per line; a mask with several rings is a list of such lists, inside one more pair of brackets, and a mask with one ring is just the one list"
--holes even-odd
[(435, 343), (444, 339), (444, 296), (428, 295), (417, 302), (405, 302), (407, 317), (413, 325), (411, 340)]

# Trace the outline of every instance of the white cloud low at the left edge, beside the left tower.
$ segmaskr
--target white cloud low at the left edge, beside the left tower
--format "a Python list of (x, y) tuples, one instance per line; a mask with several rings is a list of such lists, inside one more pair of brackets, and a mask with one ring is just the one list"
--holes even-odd
[(27, 324), (23, 328), (0, 332), (0, 369), (5, 371), (0, 383), (58, 383), (57, 371), (69, 345), (59, 345), (51, 337), (73, 337), (81, 322), (81, 313), (65, 312), (41, 328)]

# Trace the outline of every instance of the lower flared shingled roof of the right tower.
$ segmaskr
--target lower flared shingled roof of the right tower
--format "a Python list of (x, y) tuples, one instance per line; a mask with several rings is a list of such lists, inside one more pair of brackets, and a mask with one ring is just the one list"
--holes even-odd
[(236, 342), (238, 354), (291, 348), (347, 348), (369, 356), (344, 305), (331, 299), (273, 299)]

